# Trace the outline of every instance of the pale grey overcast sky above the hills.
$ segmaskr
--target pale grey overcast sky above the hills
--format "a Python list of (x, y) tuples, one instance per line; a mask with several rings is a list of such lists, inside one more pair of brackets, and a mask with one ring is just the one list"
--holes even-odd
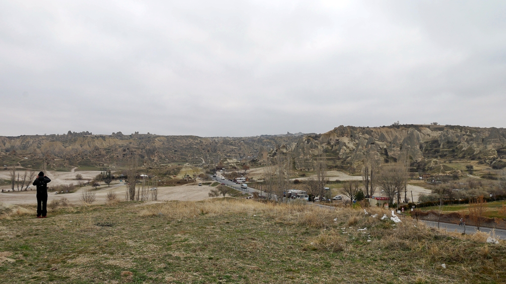
[(0, 0), (0, 135), (506, 127), (505, 1)]

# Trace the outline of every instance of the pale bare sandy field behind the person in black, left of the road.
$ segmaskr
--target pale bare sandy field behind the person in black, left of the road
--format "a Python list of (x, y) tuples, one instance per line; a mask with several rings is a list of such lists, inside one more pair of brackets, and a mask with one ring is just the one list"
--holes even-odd
[[(82, 188), (89, 189), (90, 187), (87, 186)], [(158, 187), (158, 200), (200, 201), (209, 198), (208, 193), (211, 188), (213, 187), (208, 185), (198, 186), (198, 183), (190, 183), (180, 186)], [(83, 189), (78, 188), (78, 190), (75, 193), (69, 194), (57, 195), (55, 193), (49, 193), (48, 204), (53, 199), (60, 199), (63, 197), (67, 198), (73, 204), (80, 204), (80, 197)], [(124, 200), (125, 190), (126, 186), (123, 183), (111, 184), (110, 187), (103, 186), (102, 188), (99, 188), (99, 190), (95, 192), (96, 201), (94, 204), (104, 204), (106, 201), (106, 195), (109, 191), (115, 192), (119, 200)], [(35, 205), (37, 203), (35, 195), (36, 195), (35, 191), (0, 193), (0, 201), (8, 204)]]

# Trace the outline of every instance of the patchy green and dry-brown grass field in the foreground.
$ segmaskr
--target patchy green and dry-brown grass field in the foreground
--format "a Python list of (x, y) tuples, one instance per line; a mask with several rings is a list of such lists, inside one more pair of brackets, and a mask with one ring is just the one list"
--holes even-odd
[[(2, 283), (501, 283), (506, 246), (379, 208), (243, 199), (0, 211)], [(376, 215), (377, 214), (377, 215)], [(445, 264), (446, 268), (442, 267)]]

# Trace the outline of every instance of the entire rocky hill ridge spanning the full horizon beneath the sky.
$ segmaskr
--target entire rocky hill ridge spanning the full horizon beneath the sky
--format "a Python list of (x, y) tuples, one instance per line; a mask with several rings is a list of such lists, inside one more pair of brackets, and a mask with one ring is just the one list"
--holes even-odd
[[(324, 152), (329, 166), (349, 167), (366, 157), (396, 160), (402, 151), (412, 161), (478, 160), (494, 168), (506, 162), (506, 129), (458, 125), (339, 126), (322, 134), (261, 135), (255, 137), (198, 137), (139, 134), (94, 135), (71, 132), (51, 135), (0, 136), (4, 164), (35, 164), (44, 159), (55, 168), (75, 165), (121, 165), (132, 156), (144, 164), (185, 162), (194, 165), (265, 163), (270, 156), (291, 155), (298, 169), (312, 169)], [(28, 159), (24, 159), (24, 158)], [(32, 167), (34, 165), (31, 165)]]

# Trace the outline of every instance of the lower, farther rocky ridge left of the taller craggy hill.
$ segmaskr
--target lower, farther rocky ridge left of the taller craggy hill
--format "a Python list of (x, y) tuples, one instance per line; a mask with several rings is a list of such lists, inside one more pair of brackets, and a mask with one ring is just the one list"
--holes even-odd
[[(239, 164), (256, 159), (276, 145), (292, 144), (298, 136), (198, 137), (139, 134), (93, 135), (71, 132), (63, 135), (0, 136), (0, 163), (40, 169), (70, 170), (72, 167), (101, 168), (125, 164), (137, 156), (144, 165), (190, 163), (193, 165)], [(244, 163), (243, 162), (243, 163)]]

